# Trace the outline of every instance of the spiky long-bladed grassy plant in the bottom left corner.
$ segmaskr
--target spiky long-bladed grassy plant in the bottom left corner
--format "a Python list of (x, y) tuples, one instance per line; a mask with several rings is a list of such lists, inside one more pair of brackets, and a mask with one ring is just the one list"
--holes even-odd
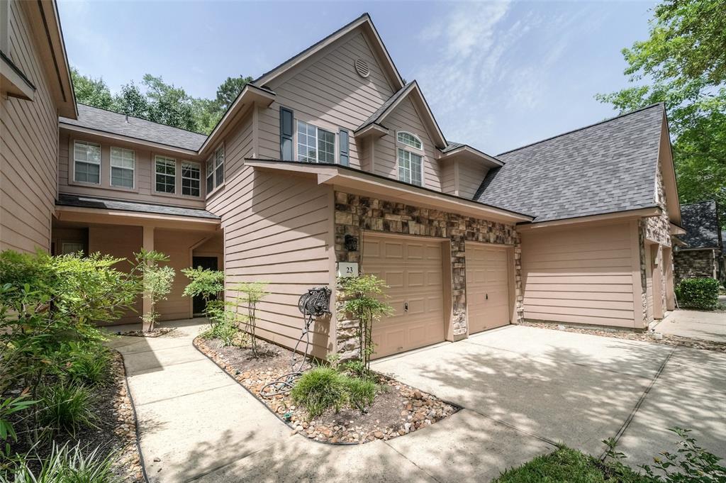
[[(0, 471), (0, 481), (15, 483), (121, 483), (111, 465), (115, 455), (104, 456), (99, 448), (83, 454), (80, 443), (53, 446), (48, 458), (24, 455), (15, 458), (5, 473)], [(38, 468), (38, 469), (35, 469)], [(12, 478), (12, 480), (11, 480)]]

